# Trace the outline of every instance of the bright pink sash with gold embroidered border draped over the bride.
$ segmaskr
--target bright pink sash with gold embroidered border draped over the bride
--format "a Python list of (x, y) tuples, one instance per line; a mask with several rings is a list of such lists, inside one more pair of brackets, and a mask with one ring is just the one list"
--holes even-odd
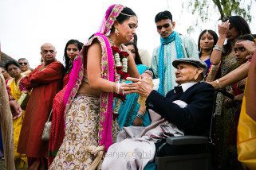
[[(112, 49), (108, 43), (107, 37), (104, 34), (96, 33), (94, 37), (91, 38), (89, 43), (85, 44), (85, 47), (88, 47), (95, 38), (100, 41), (102, 52), (106, 52), (106, 55), (103, 55), (101, 59), (101, 71), (103, 72), (101, 77), (103, 79), (108, 79), (108, 81), (114, 82), (114, 60)], [(85, 59), (83, 59), (83, 57), (85, 57)], [(69, 107), (77, 94), (78, 88), (81, 85), (85, 69), (83, 62), (85, 60), (86, 54), (80, 53), (80, 55), (73, 61), (73, 70), (71, 72), (69, 83), (67, 84), (67, 89), (64, 95), (64, 106), (66, 105), (65, 113), (69, 110)], [(100, 95), (100, 127), (98, 141), (99, 145), (104, 145), (105, 150), (108, 150), (108, 147), (112, 145), (112, 112), (113, 93), (102, 92)]]

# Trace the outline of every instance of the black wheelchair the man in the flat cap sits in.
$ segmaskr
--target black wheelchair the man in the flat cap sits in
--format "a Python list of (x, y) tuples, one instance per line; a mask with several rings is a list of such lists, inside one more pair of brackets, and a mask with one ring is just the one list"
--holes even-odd
[[(219, 89), (215, 91), (216, 101), (217, 94), (222, 93), (230, 99), (234, 99), (234, 95)], [(215, 112), (215, 102), (213, 103), (213, 111), (211, 115), (211, 126), (209, 137), (203, 136), (180, 136), (167, 137), (166, 141), (160, 144), (159, 149), (156, 150), (156, 169), (159, 170), (206, 170), (211, 169), (211, 151), (215, 145), (212, 141), (211, 131), (212, 122)], [(175, 148), (175, 152), (168, 154), (164, 151), (167, 147)]]

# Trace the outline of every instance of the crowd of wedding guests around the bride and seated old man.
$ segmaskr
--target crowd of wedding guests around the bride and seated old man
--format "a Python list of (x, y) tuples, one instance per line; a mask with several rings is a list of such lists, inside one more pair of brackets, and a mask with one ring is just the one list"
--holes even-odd
[[(175, 30), (167, 10), (155, 23), (160, 46), (152, 57), (137, 47), (136, 13), (116, 4), (89, 41), (66, 43), (64, 65), (50, 43), (41, 45), (37, 68), (26, 58), (2, 64), (6, 169), (156, 169), (156, 150), (183, 135), (211, 137), (213, 169), (255, 169), (256, 37), (247, 22), (226, 17), (198, 44)], [(234, 99), (215, 99), (215, 89)], [(187, 149), (164, 147), (162, 155)]]

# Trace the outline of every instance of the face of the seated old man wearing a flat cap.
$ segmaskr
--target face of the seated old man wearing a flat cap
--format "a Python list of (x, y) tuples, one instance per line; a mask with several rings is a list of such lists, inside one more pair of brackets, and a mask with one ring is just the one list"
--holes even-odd
[[(196, 82), (195, 75), (200, 74), (199, 68), (187, 63), (181, 63), (177, 66), (175, 71), (175, 82), (180, 84)], [(197, 78), (197, 77), (196, 77)]]

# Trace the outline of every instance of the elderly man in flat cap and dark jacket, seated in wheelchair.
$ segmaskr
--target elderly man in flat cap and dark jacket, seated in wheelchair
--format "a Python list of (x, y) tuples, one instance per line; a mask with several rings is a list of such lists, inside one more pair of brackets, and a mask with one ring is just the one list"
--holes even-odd
[[(160, 114), (164, 119), (160, 120), (159, 126), (153, 126), (156, 127), (155, 129), (148, 130), (146, 133), (142, 131), (139, 133), (139, 136), (138, 131), (144, 130), (143, 127), (140, 129), (136, 127), (124, 128), (127, 135), (132, 138), (124, 139), (124, 141), (110, 146), (102, 169), (108, 169), (110, 164), (118, 166), (116, 169), (121, 169), (128, 165), (132, 167), (131, 169), (143, 169), (148, 161), (154, 159), (156, 148), (163, 143), (164, 136), (170, 135), (171, 132), (173, 135), (209, 136), (215, 90), (210, 84), (202, 82), (206, 74), (207, 65), (201, 60), (190, 58), (174, 60), (172, 65), (177, 68), (177, 71), (175, 71), (175, 81), (179, 86), (169, 91), (166, 97), (153, 90), (152, 85), (148, 83), (147, 79), (128, 78), (135, 83), (122, 86), (125, 93), (136, 92), (147, 98), (147, 108)], [(173, 125), (177, 126), (177, 128), (172, 129)], [(160, 132), (161, 129), (171, 130), (168, 130), (168, 133), (166, 133), (167, 130)], [(121, 136), (123, 135), (119, 135), (119, 137)], [(163, 138), (160, 142), (159, 140), (154, 140), (160, 138)], [(156, 146), (153, 141), (158, 142), (155, 144)], [(167, 147), (167, 149), (163, 150), (175, 152), (175, 149), (177, 148)], [(115, 152), (123, 152), (125, 154), (127, 151), (132, 152), (134, 157), (121, 157), (120, 155), (112, 154)], [(139, 153), (140, 155), (145, 153), (142, 155), (143, 159), (138, 155)], [(115, 162), (118, 162), (118, 164), (115, 164)], [(140, 167), (136, 164), (139, 164)]]

